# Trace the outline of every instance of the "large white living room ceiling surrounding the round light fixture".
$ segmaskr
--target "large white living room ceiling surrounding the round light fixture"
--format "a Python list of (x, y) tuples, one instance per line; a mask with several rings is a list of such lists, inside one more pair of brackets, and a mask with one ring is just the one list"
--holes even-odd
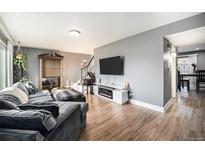
[[(157, 28), (198, 13), (0, 13), (22, 46), (76, 53)], [(72, 38), (69, 29), (81, 31)]]

